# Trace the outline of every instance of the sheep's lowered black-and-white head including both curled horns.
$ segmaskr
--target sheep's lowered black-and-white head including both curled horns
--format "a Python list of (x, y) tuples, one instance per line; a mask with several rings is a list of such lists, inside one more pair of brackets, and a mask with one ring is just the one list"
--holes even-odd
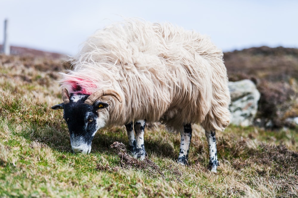
[(75, 95), (67, 89), (62, 90), (63, 103), (52, 109), (63, 109), (70, 135), (70, 143), (74, 152), (90, 153), (91, 142), (98, 129), (105, 126), (108, 119), (108, 103), (101, 102), (102, 96), (114, 96), (119, 102), (121, 98), (114, 90), (97, 91), (91, 95)]

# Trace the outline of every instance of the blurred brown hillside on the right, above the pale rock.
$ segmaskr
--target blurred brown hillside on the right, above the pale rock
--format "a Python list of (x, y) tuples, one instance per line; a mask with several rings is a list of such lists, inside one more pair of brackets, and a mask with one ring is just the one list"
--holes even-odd
[(298, 80), (298, 49), (252, 47), (224, 53), (230, 81), (244, 78), (272, 82)]

